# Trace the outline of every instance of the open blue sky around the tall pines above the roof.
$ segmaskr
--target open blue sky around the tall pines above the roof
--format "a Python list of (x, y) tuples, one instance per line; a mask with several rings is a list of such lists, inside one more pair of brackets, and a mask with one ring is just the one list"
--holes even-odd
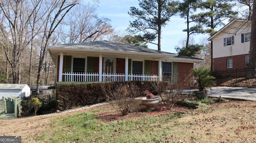
[[(129, 27), (129, 21), (136, 20), (136, 18), (131, 18), (128, 12), (132, 6), (139, 8), (138, 0), (100, 0), (97, 5), (96, 12), (99, 17), (109, 18), (115, 31), (128, 35), (125, 30)], [(180, 45), (180, 41), (186, 39), (186, 32), (182, 31), (186, 29), (185, 22), (186, 20), (180, 16), (172, 16), (168, 25), (162, 27), (161, 51), (177, 53), (174, 48)], [(195, 43), (208, 37), (203, 34), (193, 36)], [(157, 45), (148, 43), (148, 48), (157, 50)]]

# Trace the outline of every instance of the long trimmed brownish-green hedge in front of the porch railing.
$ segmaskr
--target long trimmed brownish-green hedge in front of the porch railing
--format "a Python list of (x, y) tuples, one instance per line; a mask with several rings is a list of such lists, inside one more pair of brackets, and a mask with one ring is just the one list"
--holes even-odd
[[(164, 82), (168, 85), (169, 82)], [(140, 89), (140, 95), (145, 96), (145, 90), (157, 94), (154, 90), (154, 81), (127, 81), (127, 82), (57, 82), (56, 83), (56, 110), (97, 104), (105, 102), (106, 97), (102, 88), (115, 88), (118, 84), (135, 84)], [(109, 85), (110, 84), (110, 85)]]

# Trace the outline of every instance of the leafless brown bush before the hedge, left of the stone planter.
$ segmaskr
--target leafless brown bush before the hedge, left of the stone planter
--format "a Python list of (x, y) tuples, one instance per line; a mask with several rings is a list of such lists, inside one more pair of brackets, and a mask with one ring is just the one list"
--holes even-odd
[(115, 87), (111, 87), (111, 84), (105, 84), (105, 88), (102, 89), (107, 101), (117, 111), (120, 111), (122, 116), (127, 115), (138, 104), (135, 97), (138, 97), (140, 92), (134, 84), (116, 84)]

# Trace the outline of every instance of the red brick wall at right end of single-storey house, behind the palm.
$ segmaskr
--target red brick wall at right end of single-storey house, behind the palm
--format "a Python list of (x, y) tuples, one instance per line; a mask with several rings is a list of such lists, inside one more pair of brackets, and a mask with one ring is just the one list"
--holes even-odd
[[(187, 77), (190, 75), (191, 69), (193, 69), (194, 63), (180, 63), (178, 62), (178, 84), (182, 84), (184, 80), (188, 81)], [(192, 80), (191, 80), (192, 81)], [(186, 88), (190, 88), (190, 82), (186, 82)]]

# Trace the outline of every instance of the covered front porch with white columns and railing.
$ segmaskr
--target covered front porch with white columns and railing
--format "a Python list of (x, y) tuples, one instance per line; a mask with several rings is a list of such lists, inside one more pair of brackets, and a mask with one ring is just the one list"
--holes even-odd
[[(76, 68), (78, 58), (70, 59), (60, 52), (58, 82), (110, 82), (110, 81), (155, 81), (162, 80), (162, 60), (154, 61), (155, 74), (150, 74), (150, 60), (133, 60), (124, 58), (110, 58), (100, 54), (97, 57), (80, 58), (82, 66)], [(87, 61), (87, 62), (85, 62)], [(70, 62), (70, 66), (67, 63)], [(84, 62), (84, 63), (83, 63)], [(93, 63), (93, 64), (91, 64)], [(137, 66), (136, 66), (137, 64)], [(84, 65), (84, 67), (83, 67)], [(98, 67), (95, 68), (95, 65)], [(118, 66), (122, 65), (122, 66)], [(152, 65), (152, 64), (151, 64)], [(82, 68), (81, 68), (82, 67)], [(123, 67), (123, 68), (121, 68)], [(171, 68), (171, 67), (170, 67)], [(79, 70), (78, 70), (79, 69)], [(97, 69), (97, 70), (95, 70)], [(94, 72), (97, 71), (97, 72)], [(149, 72), (148, 72), (149, 71)], [(170, 69), (172, 71), (172, 69)], [(149, 73), (149, 74), (146, 74)]]

